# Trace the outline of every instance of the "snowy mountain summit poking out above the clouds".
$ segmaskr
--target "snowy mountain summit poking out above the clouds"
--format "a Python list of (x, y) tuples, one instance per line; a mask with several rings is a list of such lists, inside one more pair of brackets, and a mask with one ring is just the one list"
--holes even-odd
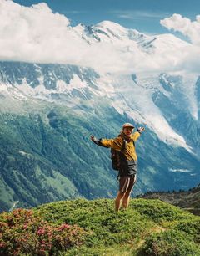
[[(87, 44), (112, 44), (113, 47), (120, 46), (122, 49), (131, 51), (131, 48), (136, 51), (137, 48), (144, 52), (150, 53), (153, 50), (162, 53), (165, 50), (180, 49), (190, 44), (173, 36), (173, 34), (161, 34), (156, 36), (148, 36), (138, 32), (136, 29), (124, 28), (117, 23), (103, 21), (94, 26), (85, 26), (78, 24), (72, 28), (82, 39), (86, 40)], [(121, 50), (122, 50), (121, 49)]]

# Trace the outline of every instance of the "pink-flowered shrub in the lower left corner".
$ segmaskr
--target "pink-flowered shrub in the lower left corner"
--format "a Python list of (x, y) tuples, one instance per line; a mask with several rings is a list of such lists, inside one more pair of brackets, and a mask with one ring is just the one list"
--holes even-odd
[(58, 227), (35, 217), (31, 210), (17, 209), (2, 213), (0, 222), (0, 255), (52, 255), (80, 246), (87, 233), (76, 225)]

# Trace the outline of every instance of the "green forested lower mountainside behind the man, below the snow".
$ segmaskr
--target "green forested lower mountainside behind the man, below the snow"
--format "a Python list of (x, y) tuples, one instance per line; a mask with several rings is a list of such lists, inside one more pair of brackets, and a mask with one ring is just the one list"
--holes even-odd
[[(117, 172), (112, 171), (109, 150), (89, 137), (117, 136), (122, 123), (133, 120), (103, 101), (96, 110), (89, 104), (76, 109), (37, 103), (27, 112), (18, 106), (15, 113), (0, 115), (0, 212), (77, 197), (115, 197)], [(158, 141), (147, 128), (137, 151), (134, 195), (196, 185), (196, 177), (188, 172), (169, 172), (172, 166), (198, 170), (198, 159), (183, 148)]]

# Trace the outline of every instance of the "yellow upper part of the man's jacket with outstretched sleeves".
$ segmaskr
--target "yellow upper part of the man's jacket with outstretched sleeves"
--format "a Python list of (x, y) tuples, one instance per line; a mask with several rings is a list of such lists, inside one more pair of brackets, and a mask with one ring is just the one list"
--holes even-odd
[[(131, 135), (132, 141), (127, 142), (127, 148), (123, 154), (126, 156), (128, 161), (130, 160), (134, 160), (136, 162), (138, 161), (138, 156), (136, 154), (136, 149), (135, 149), (135, 146), (133, 145), (133, 141), (134, 142), (137, 141), (139, 137), (140, 137), (140, 133), (136, 131)], [(121, 151), (122, 141), (123, 141), (122, 137), (119, 136), (114, 139), (102, 139), (101, 143), (103, 146), (111, 147), (117, 151)]]

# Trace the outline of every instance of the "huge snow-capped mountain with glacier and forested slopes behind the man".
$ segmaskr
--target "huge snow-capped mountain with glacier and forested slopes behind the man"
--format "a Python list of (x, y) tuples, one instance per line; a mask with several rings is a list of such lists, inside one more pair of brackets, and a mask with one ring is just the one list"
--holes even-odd
[[(65, 197), (113, 197), (117, 188), (109, 153), (93, 146), (89, 136), (117, 136), (125, 121), (146, 128), (137, 146), (136, 194), (197, 185), (199, 77), (178, 73), (178, 69), (148, 69), (151, 58), (157, 56), (159, 60), (159, 55), (169, 54), (166, 58), (173, 61), (173, 51), (190, 44), (173, 35), (148, 36), (111, 22), (91, 27), (79, 24), (68, 29), (69, 36), (92, 49), (87, 54), (94, 54), (97, 48), (108, 54), (110, 49), (111, 58), (117, 56), (119, 61), (121, 56), (121, 62), (116, 63), (117, 69), (111, 69), (113, 72), (98, 69), (97, 64), (88, 68), (74, 64), (0, 62), (0, 135), (2, 145), (6, 144), (5, 137), (9, 142), (2, 150), (1, 181), (9, 203), (4, 199), (2, 202), (10, 205), (18, 200), (30, 206)], [(88, 55), (87, 65), (90, 58)], [(148, 59), (148, 72), (142, 72), (144, 59)], [(127, 64), (132, 66), (126, 72), (117, 72), (120, 66), (124, 71)], [(20, 161), (32, 162), (30, 172), (35, 187), (28, 192), (29, 199), (24, 196), (28, 172), (23, 170), (18, 157), (23, 157)], [(9, 180), (7, 172), (13, 179)], [(96, 187), (90, 181), (93, 172)], [(37, 187), (49, 199), (41, 199)]]

